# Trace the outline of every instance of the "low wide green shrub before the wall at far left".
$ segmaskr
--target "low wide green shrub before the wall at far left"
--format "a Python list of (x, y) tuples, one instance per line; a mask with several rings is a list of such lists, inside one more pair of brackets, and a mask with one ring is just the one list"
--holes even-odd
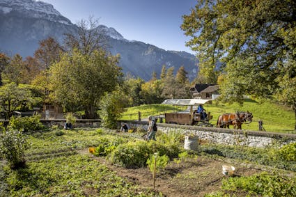
[(44, 128), (40, 122), (40, 115), (26, 117), (11, 117), (9, 125), (11, 129), (17, 129), (21, 132), (38, 131)]

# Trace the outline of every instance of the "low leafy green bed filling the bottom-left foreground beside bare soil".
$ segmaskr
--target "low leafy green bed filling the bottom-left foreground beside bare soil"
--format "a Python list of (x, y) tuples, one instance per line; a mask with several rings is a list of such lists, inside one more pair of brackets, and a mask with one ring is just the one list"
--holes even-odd
[(7, 188), (2, 192), (9, 196), (161, 196), (84, 155), (29, 161), (26, 168), (5, 171)]

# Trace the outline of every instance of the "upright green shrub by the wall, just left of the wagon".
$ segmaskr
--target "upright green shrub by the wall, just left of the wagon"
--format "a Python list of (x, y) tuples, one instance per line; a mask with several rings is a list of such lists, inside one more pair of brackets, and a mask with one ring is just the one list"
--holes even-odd
[(100, 101), (99, 115), (102, 119), (102, 126), (109, 129), (116, 129), (117, 120), (120, 118), (125, 107), (123, 92), (114, 90), (106, 93)]

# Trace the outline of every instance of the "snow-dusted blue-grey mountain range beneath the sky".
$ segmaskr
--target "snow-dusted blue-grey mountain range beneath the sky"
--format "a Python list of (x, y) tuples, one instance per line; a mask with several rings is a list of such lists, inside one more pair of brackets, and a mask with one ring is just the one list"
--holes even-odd
[[(184, 66), (189, 79), (198, 70), (195, 56), (187, 52), (166, 51), (154, 45), (126, 40), (114, 28), (98, 28), (109, 38), (111, 54), (120, 54), (123, 72), (148, 81), (152, 72), (159, 75), (162, 65), (174, 67), (175, 73)], [(39, 41), (52, 36), (63, 42), (64, 33), (75, 33), (77, 26), (49, 3), (36, 0), (0, 0), (0, 52), (9, 56), (33, 56)]]

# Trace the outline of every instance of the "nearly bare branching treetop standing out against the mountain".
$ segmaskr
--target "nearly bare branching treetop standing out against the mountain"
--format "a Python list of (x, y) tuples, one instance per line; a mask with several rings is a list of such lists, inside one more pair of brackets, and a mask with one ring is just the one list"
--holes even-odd
[(81, 19), (77, 23), (77, 34), (65, 34), (65, 48), (68, 51), (78, 49), (83, 55), (91, 55), (93, 52), (108, 47), (107, 37), (100, 28), (98, 19), (89, 17), (88, 21)]

